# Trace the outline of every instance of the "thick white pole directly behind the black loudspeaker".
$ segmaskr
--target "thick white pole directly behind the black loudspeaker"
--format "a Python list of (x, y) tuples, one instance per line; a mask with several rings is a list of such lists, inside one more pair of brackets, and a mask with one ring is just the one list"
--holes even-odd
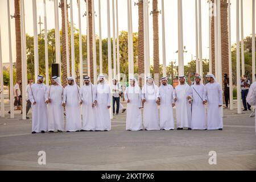
[[(61, 73), (61, 56), (60, 56), (60, 26), (59, 26), (59, 5), (58, 0), (55, 0), (55, 54), (56, 54), (56, 63), (59, 64), (59, 69)], [(61, 77), (61, 74), (60, 74)]]

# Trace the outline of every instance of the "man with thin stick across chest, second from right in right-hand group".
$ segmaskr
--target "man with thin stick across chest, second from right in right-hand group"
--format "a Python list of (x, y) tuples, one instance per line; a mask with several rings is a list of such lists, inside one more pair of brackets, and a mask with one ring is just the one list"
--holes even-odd
[(192, 130), (206, 130), (206, 114), (205, 114), (205, 86), (200, 76), (195, 77), (195, 84), (191, 85), (190, 88), (192, 101), (192, 119), (191, 129)]

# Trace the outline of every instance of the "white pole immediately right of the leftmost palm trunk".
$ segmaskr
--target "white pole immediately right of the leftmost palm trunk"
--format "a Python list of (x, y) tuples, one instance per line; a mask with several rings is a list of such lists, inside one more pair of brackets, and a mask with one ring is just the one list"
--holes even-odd
[[(20, 1), (20, 37), (21, 37), (21, 53), (22, 53), (22, 88), (26, 88), (27, 84), (27, 53), (26, 53), (26, 32), (24, 18), (24, 1)], [(22, 89), (22, 96), (26, 96), (26, 89)], [(22, 100), (22, 119), (26, 120), (26, 100)]]

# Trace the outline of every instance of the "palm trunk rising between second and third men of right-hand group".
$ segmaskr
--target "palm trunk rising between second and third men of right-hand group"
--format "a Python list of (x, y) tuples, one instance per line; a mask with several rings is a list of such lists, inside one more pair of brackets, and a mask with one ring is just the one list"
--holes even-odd
[(153, 0), (153, 34), (154, 34), (154, 80), (159, 86), (159, 29), (158, 29), (158, 0)]

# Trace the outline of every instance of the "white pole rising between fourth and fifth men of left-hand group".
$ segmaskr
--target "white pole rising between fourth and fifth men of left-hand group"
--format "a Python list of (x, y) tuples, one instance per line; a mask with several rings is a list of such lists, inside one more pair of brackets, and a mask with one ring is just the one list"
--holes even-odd
[(93, 28), (93, 82), (97, 83), (97, 49), (96, 49), (96, 34), (95, 34), (95, 14), (94, 0), (92, 0), (92, 28)]

